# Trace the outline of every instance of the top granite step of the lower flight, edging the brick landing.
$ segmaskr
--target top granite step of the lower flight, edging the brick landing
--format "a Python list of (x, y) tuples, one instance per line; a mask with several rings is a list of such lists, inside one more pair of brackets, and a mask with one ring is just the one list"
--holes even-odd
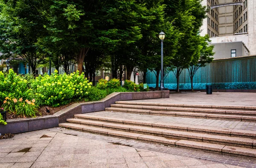
[[(167, 123), (167, 122), (154, 122), (154, 121), (146, 121), (146, 120), (138, 120), (138, 119), (125, 119), (125, 118), (116, 118), (116, 117), (107, 117), (107, 116), (96, 116), (91, 114), (76, 114), (75, 119), (81, 124), (95, 125), (102, 127), (102, 124), (120, 124), (126, 125), (126, 127), (130, 126), (145, 126), (150, 128), (161, 128), (161, 129), (169, 129), (169, 130), (179, 130), (179, 131), (187, 131), (187, 132), (195, 132), (195, 133), (207, 133), (212, 135), (224, 135), (224, 136), (232, 136), (232, 137), (244, 137), (244, 138), (252, 138), (256, 139), (256, 132), (250, 130), (237, 130), (230, 128), (219, 128), (219, 127), (205, 127), (198, 125), (183, 125), (176, 123)], [(68, 119), (75, 120), (75, 119)]]

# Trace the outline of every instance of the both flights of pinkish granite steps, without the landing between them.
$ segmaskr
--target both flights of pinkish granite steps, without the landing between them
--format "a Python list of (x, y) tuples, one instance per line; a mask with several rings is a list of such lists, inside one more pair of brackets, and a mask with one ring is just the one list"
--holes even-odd
[[(107, 116), (97, 115), (97, 112), (77, 114), (75, 118), (67, 119), (67, 123), (59, 124), (59, 126), (217, 154), (256, 157), (255, 131), (182, 125), (122, 117), (122, 113), (125, 112), (139, 113), (145, 116), (163, 115), (163, 117), (179, 116), (254, 121), (256, 120), (254, 107), (245, 109), (245, 107), (239, 106), (212, 107), (209, 105), (146, 102), (134, 104), (134, 101), (118, 101), (106, 110), (108, 110), (108, 112), (105, 112)], [(112, 117), (113, 112), (121, 112), (120, 117)]]

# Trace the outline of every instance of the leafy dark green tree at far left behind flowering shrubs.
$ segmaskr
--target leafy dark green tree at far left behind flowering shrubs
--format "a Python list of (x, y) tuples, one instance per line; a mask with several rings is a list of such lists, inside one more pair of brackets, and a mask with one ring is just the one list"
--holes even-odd
[(45, 53), (37, 46), (46, 32), (43, 6), (47, 1), (0, 1), (0, 52), (5, 58), (21, 58), (35, 69)]

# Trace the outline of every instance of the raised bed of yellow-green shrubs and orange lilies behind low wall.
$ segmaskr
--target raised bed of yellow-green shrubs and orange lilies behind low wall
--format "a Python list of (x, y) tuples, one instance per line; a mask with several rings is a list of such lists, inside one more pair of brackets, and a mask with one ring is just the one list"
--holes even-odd
[(97, 87), (93, 87), (78, 71), (60, 75), (55, 70), (52, 75), (34, 78), (29, 74), (17, 75), (11, 69), (8, 74), (0, 72), (0, 105), (8, 112), (9, 119), (35, 117), (47, 115), (46, 106), (52, 110), (75, 102), (98, 101), (113, 92), (148, 91), (142, 86), (126, 80), (121, 87), (118, 79), (102, 79)]

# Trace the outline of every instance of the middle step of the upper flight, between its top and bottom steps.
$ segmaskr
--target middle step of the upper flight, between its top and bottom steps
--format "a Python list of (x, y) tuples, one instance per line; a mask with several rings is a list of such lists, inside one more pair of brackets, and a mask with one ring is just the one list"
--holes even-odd
[(210, 113), (224, 113), (224, 114), (253, 114), (256, 115), (255, 111), (246, 111), (246, 110), (222, 110), (222, 109), (202, 109), (202, 108), (185, 108), (185, 107), (157, 107), (157, 106), (137, 106), (137, 105), (130, 105), (130, 104), (111, 104), (111, 107), (118, 107), (118, 108), (135, 108), (135, 109), (143, 109), (143, 110), (173, 110), (173, 111), (186, 111), (186, 112), (210, 112)]

